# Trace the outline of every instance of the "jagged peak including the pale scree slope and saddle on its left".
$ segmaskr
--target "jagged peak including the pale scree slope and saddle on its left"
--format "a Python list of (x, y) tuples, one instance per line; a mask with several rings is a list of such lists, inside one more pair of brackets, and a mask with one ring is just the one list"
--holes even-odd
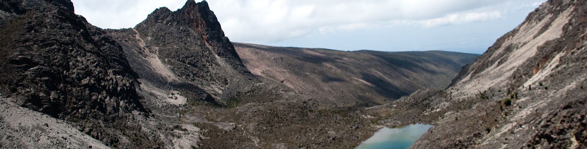
[(133, 68), (154, 84), (193, 86), (183, 90), (200, 88), (227, 102), (255, 80), (205, 1), (187, 1), (175, 12), (159, 8), (133, 29), (108, 32), (127, 44), (123, 47)]

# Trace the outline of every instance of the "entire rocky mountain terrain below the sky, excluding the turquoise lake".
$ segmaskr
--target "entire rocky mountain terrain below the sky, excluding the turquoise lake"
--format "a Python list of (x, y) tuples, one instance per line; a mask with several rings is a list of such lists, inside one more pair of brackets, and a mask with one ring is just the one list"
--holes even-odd
[(474, 55), (235, 48), (205, 1), (121, 30), (73, 11), (0, 1), (0, 148), (353, 148), (411, 123), (435, 125), (412, 148), (587, 147), (585, 1), (546, 2), (458, 75)]

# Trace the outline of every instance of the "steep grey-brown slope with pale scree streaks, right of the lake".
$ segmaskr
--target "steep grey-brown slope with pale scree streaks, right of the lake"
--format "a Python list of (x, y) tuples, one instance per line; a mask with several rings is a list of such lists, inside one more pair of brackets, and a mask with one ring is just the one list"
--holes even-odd
[(542, 4), (444, 91), (377, 109), (435, 126), (411, 148), (586, 148), (587, 2)]

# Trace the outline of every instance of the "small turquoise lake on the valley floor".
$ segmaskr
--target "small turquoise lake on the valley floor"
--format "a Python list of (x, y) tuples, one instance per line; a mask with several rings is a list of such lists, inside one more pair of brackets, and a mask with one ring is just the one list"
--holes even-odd
[(390, 129), (383, 128), (373, 134), (372, 137), (363, 141), (355, 149), (405, 149), (409, 148), (414, 141), (426, 133), (432, 125), (412, 124), (410, 126)]

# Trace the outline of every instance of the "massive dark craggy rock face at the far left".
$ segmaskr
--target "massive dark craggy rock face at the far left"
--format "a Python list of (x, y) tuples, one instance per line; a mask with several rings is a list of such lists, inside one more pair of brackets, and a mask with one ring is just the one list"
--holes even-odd
[(3, 1), (0, 85), (22, 106), (60, 118), (140, 109), (122, 48), (69, 1)]

